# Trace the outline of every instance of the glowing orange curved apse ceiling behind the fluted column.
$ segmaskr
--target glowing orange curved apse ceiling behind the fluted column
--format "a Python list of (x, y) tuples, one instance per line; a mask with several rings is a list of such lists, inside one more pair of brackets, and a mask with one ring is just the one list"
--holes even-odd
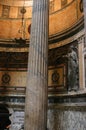
[[(28, 27), (31, 25), (32, 0), (0, 0), (0, 38), (20, 37), (21, 8), (25, 6), (24, 14), (25, 38), (30, 38)], [(80, 9), (81, 0), (50, 0), (49, 4), (49, 35), (67, 32), (83, 16)], [(3, 30), (3, 31), (2, 31)]]

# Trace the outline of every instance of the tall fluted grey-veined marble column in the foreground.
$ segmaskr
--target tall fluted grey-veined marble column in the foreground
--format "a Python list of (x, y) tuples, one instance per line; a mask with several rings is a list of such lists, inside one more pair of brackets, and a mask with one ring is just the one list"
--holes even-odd
[(33, 0), (25, 103), (25, 130), (46, 130), (49, 0)]

